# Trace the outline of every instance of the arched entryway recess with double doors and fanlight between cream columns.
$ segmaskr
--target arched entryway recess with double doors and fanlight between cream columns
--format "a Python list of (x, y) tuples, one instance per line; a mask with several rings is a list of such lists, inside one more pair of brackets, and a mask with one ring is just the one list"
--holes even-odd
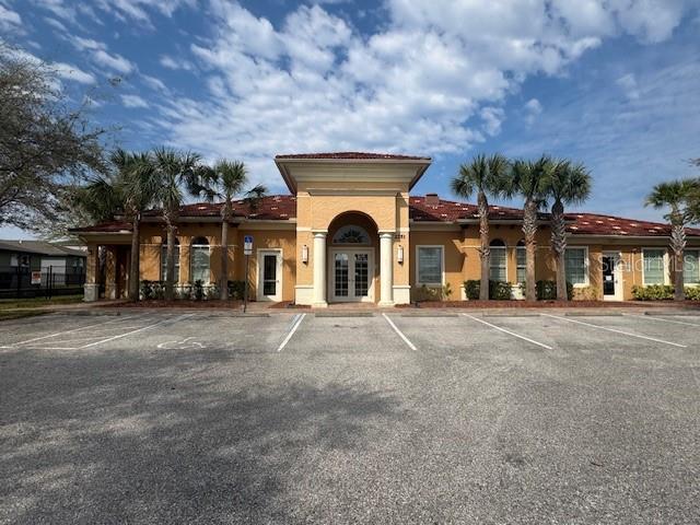
[(327, 301), (376, 301), (378, 235), (374, 220), (359, 211), (337, 215), (328, 226)]

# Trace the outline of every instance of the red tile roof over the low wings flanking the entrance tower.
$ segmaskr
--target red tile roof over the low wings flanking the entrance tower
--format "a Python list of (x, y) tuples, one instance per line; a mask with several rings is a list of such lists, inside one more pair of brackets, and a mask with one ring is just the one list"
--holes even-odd
[[(185, 205), (180, 208), (182, 217), (219, 217), (221, 203), (200, 202)], [(156, 211), (147, 215), (156, 215)], [(456, 222), (460, 220), (476, 220), (477, 207), (467, 202), (439, 199), (435, 206), (427, 203), (425, 197), (410, 197), (410, 218), (416, 222)], [(249, 213), (242, 200), (234, 201), (234, 217), (252, 220), (289, 220), (296, 218), (296, 197), (291, 195), (271, 195), (265, 197), (255, 213)], [(567, 230), (574, 235), (619, 235), (619, 236), (668, 236), (670, 228), (667, 224), (637, 221), (614, 215), (596, 213), (567, 213), (569, 222)], [(491, 220), (517, 221), (523, 218), (523, 210), (503, 206), (490, 206)], [(549, 220), (548, 213), (540, 213), (541, 220)], [(113, 221), (94, 226), (74, 229), (80, 232), (118, 232), (131, 230), (127, 222)], [(687, 229), (688, 235), (700, 236), (700, 229)]]

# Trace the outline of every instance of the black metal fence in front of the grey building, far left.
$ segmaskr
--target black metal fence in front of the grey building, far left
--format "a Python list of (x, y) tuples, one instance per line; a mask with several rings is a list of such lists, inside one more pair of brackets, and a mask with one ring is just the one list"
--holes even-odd
[(83, 268), (52, 266), (32, 271), (21, 266), (0, 267), (0, 299), (51, 298), (83, 293)]

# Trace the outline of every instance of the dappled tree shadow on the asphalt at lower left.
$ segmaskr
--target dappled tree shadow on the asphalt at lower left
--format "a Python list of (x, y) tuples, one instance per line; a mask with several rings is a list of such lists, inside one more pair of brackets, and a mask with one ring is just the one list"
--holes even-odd
[(238, 381), (234, 365), (212, 350), (1, 353), (0, 523), (304, 521), (300, 469), (406, 416), (362, 384)]

